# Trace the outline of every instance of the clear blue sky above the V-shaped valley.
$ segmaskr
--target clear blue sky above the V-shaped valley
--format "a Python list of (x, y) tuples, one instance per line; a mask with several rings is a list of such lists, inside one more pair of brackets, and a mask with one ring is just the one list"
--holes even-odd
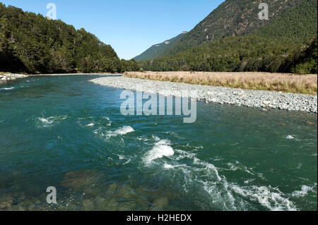
[(131, 59), (157, 44), (189, 31), (224, 0), (0, 0), (6, 6), (46, 16), (57, 5), (57, 19), (85, 28)]

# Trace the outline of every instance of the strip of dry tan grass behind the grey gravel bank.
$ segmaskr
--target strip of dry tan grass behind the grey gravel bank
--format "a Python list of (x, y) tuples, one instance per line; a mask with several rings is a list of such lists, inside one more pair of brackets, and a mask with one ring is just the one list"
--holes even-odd
[(317, 95), (317, 74), (223, 73), (223, 72), (126, 72), (125, 77), (196, 85), (273, 90)]

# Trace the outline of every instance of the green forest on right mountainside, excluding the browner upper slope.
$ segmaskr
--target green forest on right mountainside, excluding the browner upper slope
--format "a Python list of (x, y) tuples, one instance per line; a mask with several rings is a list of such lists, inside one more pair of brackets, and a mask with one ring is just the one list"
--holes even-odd
[[(223, 5), (232, 2), (238, 4), (239, 1), (225, 1)], [(250, 34), (221, 37), (188, 48), (184, 38), (193, 34), (191, 31), (172, 47), (181, 46), (187, 50), (178, 49), (175, 54), (167, 52), (167, 56), (142, 61), (141, 68), (149, 71), (317, 73), (317, 0), (285, 2), (289, 2), (290, 7)], [(245, 3), (247, 1), (242, 1)], [(211, 15), (218, 15), (219, 10), (220, 7)], [(197, 29), (198, 26), (194, 28)]]

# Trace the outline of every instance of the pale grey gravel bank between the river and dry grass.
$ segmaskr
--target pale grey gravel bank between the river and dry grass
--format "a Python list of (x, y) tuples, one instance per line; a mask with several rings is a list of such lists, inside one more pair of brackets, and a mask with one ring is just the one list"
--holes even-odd
[[(138, 78), (107, 77), (90, 80), (98, 85), (136, 90), (142, 85), (143, 91), (151, 94), (173, 95), (173, 92), (187, 90), (196, 91), (194, 97), (206, 103), (233, 104), (237, 106), (258, 107), (267, 109), (283, 109), (288, 111), (304, 111), (317, 114), (317, 95), (303, 95), (263, 90), (242, 90), (230, 87), (213, 87), (207, 85), (190, 85), (158, 80), (142, 80)], [(189, 94), (191, 95), (191, 94)]]

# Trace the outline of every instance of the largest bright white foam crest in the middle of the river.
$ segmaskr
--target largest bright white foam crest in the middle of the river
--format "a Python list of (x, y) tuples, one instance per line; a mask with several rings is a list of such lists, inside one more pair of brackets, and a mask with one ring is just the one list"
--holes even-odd
[(146, 155), (144, 161), (146, 164), (150, 164), (155, 159), (160, 159), (163, 157), (170, 157), (173, 154), (175, 154), (172, 147), (170, 147), (170, 141), (169, 140), (159, 140), (155, 143), (155, 146), (152, 150), (148, 152)]

